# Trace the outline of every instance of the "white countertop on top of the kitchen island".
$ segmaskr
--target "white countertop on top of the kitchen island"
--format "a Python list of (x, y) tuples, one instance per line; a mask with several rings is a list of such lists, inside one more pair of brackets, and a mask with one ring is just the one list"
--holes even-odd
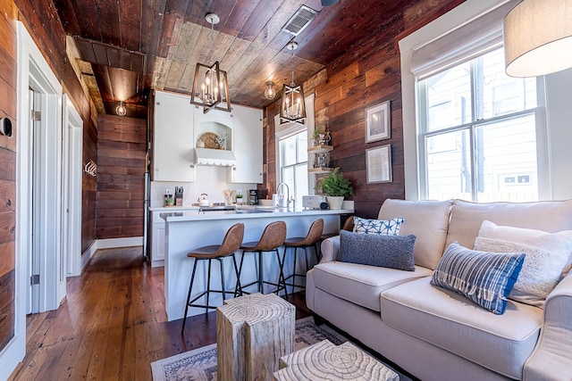
[(167, 222), (176, 221), (195, 221), (206, 219), (259, 219), (265, 217), (294, 217), (308, 215), (335, 215), (335, 214), (353, 214), (353, 209), (297, 209), (291, 210), (287, 208), (265, 208), (265, 207), (239, 207), (237, 211), (171, 211), (161, 213), (159, 216)]

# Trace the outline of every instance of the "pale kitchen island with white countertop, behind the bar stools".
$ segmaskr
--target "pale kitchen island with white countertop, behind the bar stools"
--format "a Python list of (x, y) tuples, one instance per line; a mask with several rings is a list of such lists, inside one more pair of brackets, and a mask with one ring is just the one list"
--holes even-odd
[[(243, 242), (257, 241), (266, 225), (273, 221), (283, 220), (287, 226), (287, 236), (306, 236), (308, 228), (315, 219), (324, 219), (324, 234), (336, 233), (340, 230), (341, 215), (352, 214), (353, 209), (341, 210), (296, 210), (286, 208), (245, 207), (236, 211), (175, 211), (164, 212), (160, 217), (165, 220), (165, 259), (164, 259), (164, 297), (165, 309), (169, 320), (181, 319), (185, 311), (185, 302), (189, 292), (189, 281), (193, 259), (187, 257), (187, 253), (200, 246), (220, 244), (226, 231), (232, 225), (242, 222), (245, 225)], [(280, 249), (282, 255), (283, 247)], [(315, 254), (312, 250), (308, 253), (310, 266), (315, 263)], [(277, 282), (279, 265), (276, 255), (264, 253), (265, 279)], [(284, 263), (284, 275), (292, 272), (294, 251), (289, 250)], [(299, 253), (301, 259), (303, 254)], [(240, 261), (240, 253), (237, 254)], [(236, 275), (231, 257), (224, 259), (224, 283), (230, 290), (236, 284)], [(199, 263), (193, 295), (198, 295), (206, 290), (207, 261)], [(240, 281), (250, 283), (257, 278), (257, 262), (253, 254), (248, 254), (242, 268)], [(298, 261), (298, 271), (305, 270), (305, 261)], [(215, 263), (211, 269), (211, 288), (220, 289), (220, 267)], [(247, 291), (256, 292), (256, 286)], [(268, 287), (268, 286), (267, 286)], [(270, 288), (265, 293), (272, 292)], [(289, 288), (289, 292), (290, 292)], [(227, 298), (232, 296), (232, 291)], [(222, 294), (211, 294), (210, 304), (223, 304)], [(214, 310), (209, 310), (214, 311)], [(189, 308), (188, 316), (204, 313), (205, 309)]]

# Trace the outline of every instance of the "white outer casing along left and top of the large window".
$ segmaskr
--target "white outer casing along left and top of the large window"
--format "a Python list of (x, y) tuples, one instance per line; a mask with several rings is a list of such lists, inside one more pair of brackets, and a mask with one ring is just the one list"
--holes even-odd
[[(417, 110), (416, 110), (416, 78), (411, 71), (413, 52), (426, 46), (470, 21), (481, 17), (487, 12), (498, 8), (510, 0), (467, 0), (439, 19), (430, 22), (425, 27), (416, 30), (408, 37), (400, 40), (401, 59), (401, 98), (403, 112), (403, 151), (405, 170), (405, 198), (418, 200), (421, 191), (419, 183), (419, 158), (417, 139)], [(539, 189), (539, 192), (542, 190)]]

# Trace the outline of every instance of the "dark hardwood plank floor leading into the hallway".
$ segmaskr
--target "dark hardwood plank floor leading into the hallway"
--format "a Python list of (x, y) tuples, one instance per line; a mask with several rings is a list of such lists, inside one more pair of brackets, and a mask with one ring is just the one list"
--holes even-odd
[[(26, 357), (10, 380), (151, 380), (150, 363), (216, 342), (216, 313), (167, 321), (164, 270), (141, 247), (99, 250), (57, 311), (27, 318)], [(182, 285), (188, 287), (188, 285)], [(304, 293), (290, 295), (297, 319)]]

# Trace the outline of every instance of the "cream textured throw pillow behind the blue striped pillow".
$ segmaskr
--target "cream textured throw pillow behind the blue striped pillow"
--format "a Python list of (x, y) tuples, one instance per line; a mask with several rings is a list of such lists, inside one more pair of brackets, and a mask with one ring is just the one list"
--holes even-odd
[[(534, 230), (529, 228), (498, 226), (491, 221), (484, 220), (483, 224), (481, 225), (481, 229), (479, 230), (478, 236), (533, 248), (535, 258), (534, 261), (538, 261), (538, 263), (534, 266), (540, 266), (542, 268), (542, 273), (537, 275), (537, 279), (544, 277), (544, 275), (546, 275), (545, 272), (550, 272), (551, 275), (546, 275), (544, 279), (548, 279), (549, 277), (554, 278), (556, 277), (554, 274), (558, 272), (556, 281), (556, 283), (558, 283), (561, 277), (566, 275), (570, 269), (570, 261), (572, 261), (572, 230), (564, 230), (558, 233), (547, 233), (542, 230)], [(476, 243), (477, 241), (475, 240), (475, 245)], [(479, 245), (481, 244), (483, 244), (483, 242), (481, 242)], [(475, 248), (475, 250), (484, 249)], [(495, 252), (515, 252), (513, 249), (502, 250), (501, 247), (494, 247), (494, 249), (490, 250), (494, 250)], [(526, 247), (518, 247), (517, 251), (520, 250), (522, 250), (523, 253), (526, 253)], [(548, 255), (545, 253), (548, 253)], [(548, 261), (547, 258), (549, 257), (550, 260)], [(543, 261), (542, 259), (544, 259), (546, 262), (541, 263), (541, 261)], [(525, 270), (526, 267), (528, 266), (525, 260), (523, 270)], [(545, 286), (543, 286), (543, 288), (546, 289)]]

